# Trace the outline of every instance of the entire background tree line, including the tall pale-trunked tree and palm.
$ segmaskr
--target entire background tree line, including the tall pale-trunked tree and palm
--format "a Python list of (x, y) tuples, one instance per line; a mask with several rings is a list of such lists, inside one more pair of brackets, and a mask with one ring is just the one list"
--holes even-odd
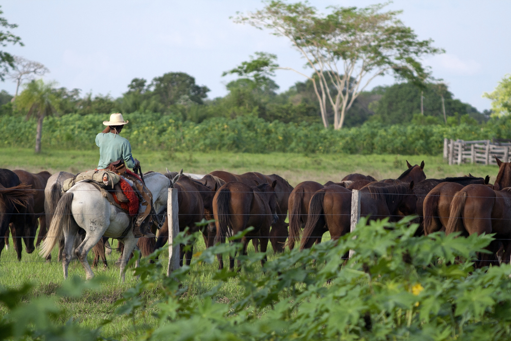
[[(226, 96), (215, 99), (207, 98), (207, 86), (196, 84), (193, 76), (183, 72), (169, 72), (151, 81), (133, 78), (119, 98), (82, 95), (81, 89), (36, 79), (49, 72), (43, 64), (0, 51), (0, 80), (7, 77), (16, 82), (14, 96), (0, 92), (0, 115), (37, 118), (36, 151), (40, 150), (44, 117), (69, 113), (160, 113), (195, 124), (250, 116), (267, 122), (321, 123), (334, 129), (365, 122), (385, 126), (487, 121), (491, 111), (481, 113), (455, 99), (445, 82), (434, 79), (431, 70), (422, 65), (423, 57), (444, 50), (434, 47), (432, 39), (417, 39), (399, 20), (401, 11), (385, 11), (386, 5), (332, 6), (330, 12), (322, 13), (309, 3), (277, 0), (261, 10), (238, 13), (235, 22), (288, 39), (306, 60), (309, 71), (278, 65), (276, 55), (255, 52), (248, 61), (222, 74), (238, 78), (226, 85)], [(23, 45), (20, 37), (9, 31), (16, 27), (0, 17), (2, 46)], [(278, 93), (273, 80), (278, 69), (297, 72), (305, 80)], [(398, 83), (369, 90), (370, 82), (383, 75), (393, 75)], [(510, 83), (505, 76), (493, 93), (484, 94), (493, 101), (494, 115), (509, 113)], [(23, 90), (18, 96), (20, 86)]]

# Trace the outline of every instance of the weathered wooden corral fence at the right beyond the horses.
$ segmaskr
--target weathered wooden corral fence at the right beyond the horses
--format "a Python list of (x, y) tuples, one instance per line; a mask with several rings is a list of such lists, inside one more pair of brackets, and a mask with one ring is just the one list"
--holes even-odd
[(497, 156), (503, 162), (511, 160), (511, 143), (492, 142), (490, 140), (463, 141), (444, 139), (444, 160), (449, 165), (481, 163), (496, 165)]

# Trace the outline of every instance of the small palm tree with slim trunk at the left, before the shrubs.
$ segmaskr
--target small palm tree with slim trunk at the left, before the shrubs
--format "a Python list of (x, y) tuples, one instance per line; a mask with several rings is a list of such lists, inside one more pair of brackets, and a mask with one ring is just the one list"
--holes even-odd
[(42, 121), (45, 117), (57, 112), (59, 98), (53, 92), (53, 82), (44, 83), (42, 79), (33, 80), (25, 85), (25, 89), (16, 99), (20, 109), (28, 110), (27, 120), (31, 116), (37, 117), (37, 130), (35, 137), (35, 152), (41, 151)]

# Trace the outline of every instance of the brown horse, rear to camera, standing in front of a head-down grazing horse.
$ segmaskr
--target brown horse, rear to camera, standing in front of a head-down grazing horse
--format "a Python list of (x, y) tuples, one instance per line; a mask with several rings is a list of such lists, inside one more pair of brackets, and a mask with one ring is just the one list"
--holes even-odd
[[(259, 238), (261, 252), (266, 253), (270, 225), (278, 220), (276, 214), (277, 196), (271, 185), (261, 184), (250, 187), (239, 181), (231, 181), (223, 185), (213, 198), (213, 215), (217, 227), (215, 242), (225, 242), (225, 238), (253, 227), (241, 238), (242, 254), (246, 255), (247, 244), (251, 239)], [(219, 269), (223, 268), (222, 255), (217, 255)], [(261, 260), (264, 265), (267, 257)], [(240, 261), (238, 260), (238, 264)], [(230, 257), (230, 269), (234, 268), (234, 257)]]

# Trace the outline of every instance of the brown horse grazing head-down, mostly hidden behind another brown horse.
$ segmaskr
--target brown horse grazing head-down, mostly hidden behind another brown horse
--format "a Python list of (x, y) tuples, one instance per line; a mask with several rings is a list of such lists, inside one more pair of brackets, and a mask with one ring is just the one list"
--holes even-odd
[[(258, 172), (247, 172), (244, 174), (233, 174), (226, 171), (213, 171), (210, 175), (216, 176), (224, 180), (239, 181), (247, 186), (253, 187), (263, 183), (272, 184), (276, 181), (275, 193), (277, 195), (277, 215), (278, 220), (271, 225), (270, 242), (274, 252), (283, 252), (286, 239), (288, 237), (288, 226), (286, 217), (288, 214), (288, 199), (293, 191), (293, 187), (288, 181), (277, 174), (264, 175)], [(253, 239), (255, 249), (258, 249), (257, 239)]]

